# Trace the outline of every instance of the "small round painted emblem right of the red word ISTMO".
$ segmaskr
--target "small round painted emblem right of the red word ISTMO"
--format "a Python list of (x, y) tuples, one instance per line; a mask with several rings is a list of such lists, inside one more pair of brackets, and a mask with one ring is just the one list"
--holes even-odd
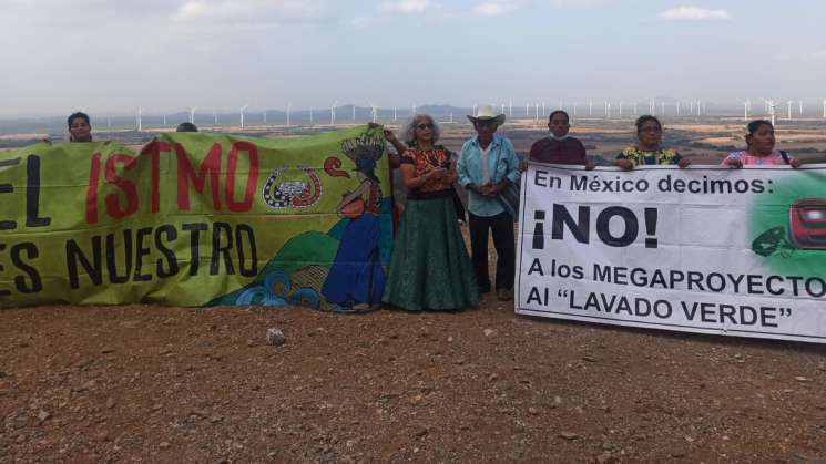
[[(303, 172), (305, 178), (284, 178), (285, 173), (295, 174), (297, 171)], [(307, 166), (278, 166), (269, 174), (262, 196), (274, 209), (306, 208), (322, 196), (322, 179)]]

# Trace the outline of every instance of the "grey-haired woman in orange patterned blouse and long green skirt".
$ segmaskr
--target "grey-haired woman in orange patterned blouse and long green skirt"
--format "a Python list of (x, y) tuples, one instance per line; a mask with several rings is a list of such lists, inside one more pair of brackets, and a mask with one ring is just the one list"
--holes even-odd
[(425, 114), (415, 115), (405, 126), (408, 146), (385, 131), (401, 155), (408, 193), (381, 300), (410, 311), (458, 310), (479, 303), (453, 205), (456, 163), (450, 151), (436, 145), (439, 133)]

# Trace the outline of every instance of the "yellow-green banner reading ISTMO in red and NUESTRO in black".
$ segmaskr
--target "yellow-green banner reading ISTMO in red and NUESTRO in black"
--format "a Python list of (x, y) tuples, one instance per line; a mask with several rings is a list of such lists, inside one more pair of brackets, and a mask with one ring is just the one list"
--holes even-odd
[(0, 306), (368, 308), (391, 203), (380, 127), (0, 152)]

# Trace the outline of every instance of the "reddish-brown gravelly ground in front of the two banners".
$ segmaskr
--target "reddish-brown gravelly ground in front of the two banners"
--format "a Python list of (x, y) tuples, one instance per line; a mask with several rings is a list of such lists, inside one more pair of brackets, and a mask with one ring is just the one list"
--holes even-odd
[(824, 350), (491, 298), (2, 310), (0, 462), (798, 462), (826, 457)]

